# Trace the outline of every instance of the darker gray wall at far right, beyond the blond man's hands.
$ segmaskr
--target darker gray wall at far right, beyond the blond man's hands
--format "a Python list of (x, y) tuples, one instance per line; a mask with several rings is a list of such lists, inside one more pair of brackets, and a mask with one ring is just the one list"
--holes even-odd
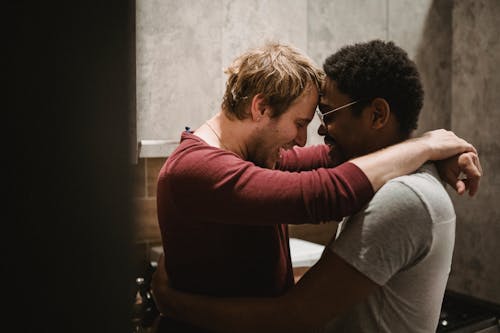
[(451, 128), (479, 150), (484, 177), (474, 199), (452, 195), (456, 246), (449, 286), (500, 304), (500, 1), (453, 7)]

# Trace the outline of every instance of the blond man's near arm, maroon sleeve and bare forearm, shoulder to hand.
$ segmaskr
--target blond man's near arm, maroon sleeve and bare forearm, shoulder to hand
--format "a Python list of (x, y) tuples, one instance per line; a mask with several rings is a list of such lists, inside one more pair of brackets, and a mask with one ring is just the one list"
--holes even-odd
[[(169, 209), (182, 212), (184, 219), (198, 218), (198, 212), (203, 211), (206, 221), (222, 224), (339, 220), (361, 209), (374, 190), (389, 179), (413, 172), (427, 160), (475, 151), (452, 132), (437, 130), (335, 168), (282, 172), (259, 168), (232, 153), (193, 146), (197, 149), (183, 149), (175, 159), (171, 156), (168, 167), (160, 172), (160, 222), (169, 218)], [(462, 171), (468, 178), (464, 186), (473, 194), (480, 172), (475, 165)], [(457, 181), (458, 175), (452, 178), (446, 181), (454, 188), (463, 182)], [(221, 202), (224, 209), (220, 209)], [(198, 209), (193, 209), (193, 203)], [(262, 214), (264, 211), (266, 214)]]

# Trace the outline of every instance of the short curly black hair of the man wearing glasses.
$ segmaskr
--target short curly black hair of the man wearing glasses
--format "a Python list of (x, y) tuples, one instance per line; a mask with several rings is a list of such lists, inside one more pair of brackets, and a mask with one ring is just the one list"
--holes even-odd
[[(415, 63), (393, 42), (372, 40), (342, 47), (323, 64), (339, 91), (360, 106), (384, 98), (396, 116), (403, 136), (417, 128), (424, 91)], [(362, 107), (354, 108), (358, 114)]]

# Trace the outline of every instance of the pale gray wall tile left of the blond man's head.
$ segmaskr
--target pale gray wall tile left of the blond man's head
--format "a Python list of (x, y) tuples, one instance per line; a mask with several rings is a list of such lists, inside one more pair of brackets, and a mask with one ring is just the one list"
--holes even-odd
[(178, 139), (219, 111), (222, 1), (137, 1), (139, 139)]

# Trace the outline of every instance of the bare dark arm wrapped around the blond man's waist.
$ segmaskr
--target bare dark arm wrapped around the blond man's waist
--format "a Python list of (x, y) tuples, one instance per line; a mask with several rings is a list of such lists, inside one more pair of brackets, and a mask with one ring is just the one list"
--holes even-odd
[[(163, 258), (160, 258), (163, 261)], [(367, 297), (378, 286), (326, 250), (287, 294), (273, 298), (216, 298), (167, 286), (163, 264), (153, 276), (161, 313), (217, 332), (310, 332)]]

